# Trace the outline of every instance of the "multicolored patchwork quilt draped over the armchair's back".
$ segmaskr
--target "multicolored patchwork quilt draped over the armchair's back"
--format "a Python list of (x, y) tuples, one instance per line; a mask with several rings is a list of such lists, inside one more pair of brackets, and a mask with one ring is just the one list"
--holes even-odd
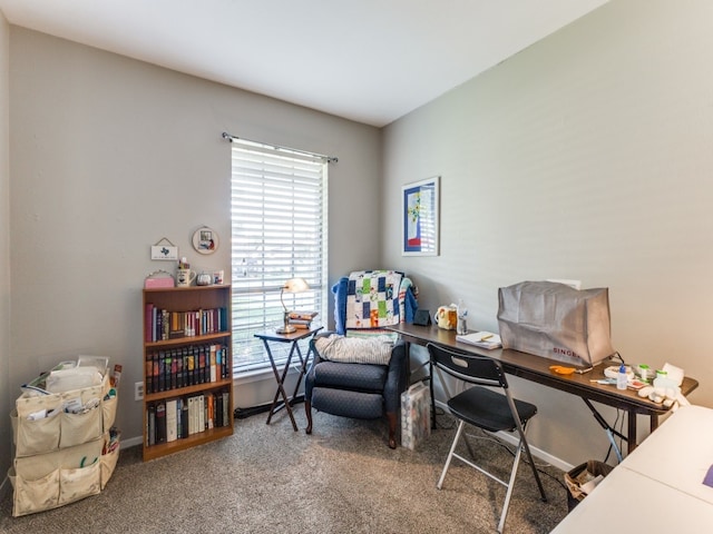
[(401, 320), (399, 291), (403, 274), (358, 270), (346, 285), (346, 328), (381, 328)]

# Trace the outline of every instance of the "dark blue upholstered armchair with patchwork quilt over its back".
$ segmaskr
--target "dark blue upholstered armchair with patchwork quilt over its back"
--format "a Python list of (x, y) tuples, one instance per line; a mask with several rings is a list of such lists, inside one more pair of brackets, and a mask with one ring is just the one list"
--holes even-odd
[(323, 338), (330, 338), (330, 334), (322, 334), (312, 340), (314, 360), (304, 383), (306, 433), (312, 433), (312, 408), (360, 419), (375, 419), (385, 415), (389, 446), (395, 448), (401, 394), (409, 380), (406, 345), (403, 342), (388, 346), (382, 343), (379, 357), (372, 359), (372, 355), (360, 357), (369, 353), (362, 348), (368, 344), (360, 345), (345, 339), (354, 333), (359, 334), (358, 337), (372, 337), (383, 334), (382, 329), (387, 326), (411, 323), (418, 306), (417, 291), (403, 273), (361, 270), (340, 278), (332, 287), (332, 293), (335, 329), (341, 336), (335, 336), (334, 345), (341, 345), (342, 354), (339, 358), (332, 354), (320, 354), (318, 345), (324, 348)]

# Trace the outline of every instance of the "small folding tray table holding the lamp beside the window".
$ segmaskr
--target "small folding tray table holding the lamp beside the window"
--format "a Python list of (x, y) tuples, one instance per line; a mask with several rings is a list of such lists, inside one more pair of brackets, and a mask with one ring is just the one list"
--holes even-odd
[[(294, 398), (297, 395), (297, 389), (300, 389), (300, 384), (302, 384), (302, 377), (307, 370), (307, 360), (310, 359), (310, 354), (312, 348), (307, 349), (307, 354), (303, 357), (302, 350), (300, 349), (299, 342), (302, 339), (306, 339), (307, 337), (314, 336), (318, 332), (320, 332), (322, 327), (311, 328), (311, 329), (297, 329), (292, 334), (277, 334), (274, 332), (264, 332), (262, 334), (255, 334), (255, 337), (263, 340), (265, 345), (265, 350), (267, 352), (267, 357), (270, 358), (270, 365), (272, 365), (272, 370), (275, 374), (275, 380), (277, 382), (277, 390), (275, 392), (275, 398), (272, 402), (272, 406), (270, 407), (270, 414), (267, 414), (267, 423), (272, 419), (272, 416), (280, 412), (282, 408), (287, 411), (290, 414), (290, 421), (292, 421), (292, 427), (294, 432), (297, 432), (297, 424), (294, 421), (294, 414), (292, 413), (292, 403), (294, 403)], [(292, 346), (290, 347), (290, 354), (287, 355), (287, 359), (285, 360), (285, 367), (282, 370), (282, 375), (277, 370), (277, 365), (275, 364), (275, 358), (272, 355), (272, 349), (270, 348), (270, 343), (289, 343)], [(290, 365), (292, 364), (292, 357), (294, 354), (297, 354), (300, 358), (300, 375), (297, 376), (297, 384), (294, 386), (294, 393), (292, 397), (287, 397), (287, 393), (285, 392), (285, 378), (287, 377), (287, 372), (290, 370)], [(280, 396), (282, 395), (282, 402), (280, 402)]]

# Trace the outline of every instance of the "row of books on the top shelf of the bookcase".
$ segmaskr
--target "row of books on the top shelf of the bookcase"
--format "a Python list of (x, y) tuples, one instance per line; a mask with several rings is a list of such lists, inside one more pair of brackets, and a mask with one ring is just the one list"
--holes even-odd
[(147, 343), (227, 332), (228, 324), (227, 308), (169, 312), (149, 303), (144, 317)]

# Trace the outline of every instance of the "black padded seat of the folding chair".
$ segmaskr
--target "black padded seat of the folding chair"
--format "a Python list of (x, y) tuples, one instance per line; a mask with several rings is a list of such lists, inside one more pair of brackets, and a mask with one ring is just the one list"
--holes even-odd
[[(515, 399), (515, 406), (522, 423), (537, 413), (534, 404), (524, 400)], [(448, 400), (448, 407), (456, 417), (489, 432), (514, 431), (517, 426), (507, 397), (485, 387), (466, 389)]]

